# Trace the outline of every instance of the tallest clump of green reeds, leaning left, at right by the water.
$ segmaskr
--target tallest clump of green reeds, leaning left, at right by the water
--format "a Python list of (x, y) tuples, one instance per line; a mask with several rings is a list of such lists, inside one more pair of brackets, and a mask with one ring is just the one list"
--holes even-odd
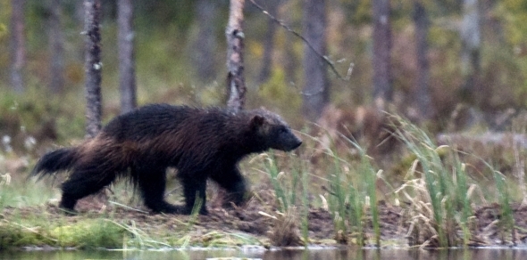
[[(397, 137), (415, 156), (410, 177), (414, 177), (416, 166), (421, 167), (419, 178), (422, 182), (411, 180), (403, 185), (403, 190), (411, 190), (410, 192), (414, 193), (414, 196), (406, 194), (407, 199), (413, 200), (411, 204), (414, 205), (416, 214), (412, 218), (412, 226), (428, 229), (424, 232), (427, 234), (424, 241), (420, 242), (439, 248), (458, 246), (460, 241), (456, 227), (459, 226), (464, 231), (463, 244), (466, 245), (470, 240), (468, 219), (472, 215), (472, 207), (467, 192), (469, 176), (457, 156), (457, 151), (446, 145), (437, 146), (419, 127), (403, 118), (393, 118), (397, 122)], [(423, 183), (424, 187), (416, 183)], [(397, 190), (400, 191), (402, 189)], [(415, 196), (416, 193), (420, 195)], [(422, 198), (424, 201), (416, 201), (414, 198)], [(431, 208), (428, 205), (431, 205)], [(431, 214), (427, 214), (430, 213), (428, 209), (431, 209)], [(416, 227), (415, 224), (422, 226)]]

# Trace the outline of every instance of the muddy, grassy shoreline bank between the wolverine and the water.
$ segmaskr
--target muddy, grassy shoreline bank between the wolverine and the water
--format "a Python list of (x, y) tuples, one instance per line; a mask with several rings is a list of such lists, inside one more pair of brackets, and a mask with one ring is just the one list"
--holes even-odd
[[(263, 194), (260, 194), (262, 198)], [(39, 236), (51, 236), (43, 223), (31, 226), (27, 219), (44, 219), (49, 230), (71, 228), (76, 235), (76, 225), (98, 219), (104, 223), (113, 223), (124, 227), (124, 233), (130, 237), (142, 234), (148, 240), (158, 241), (143, 245), (145, 248), (229, 248), (255, 246), (264, 249), (279, 247), (357, 247), (357, 238), (363, 236), (365, 248), (375, 248), (374, 232), (370, 215), (366, 215), (362, 233), (336, 231), (333, 216), (327, 210), (317, 207), (307, 212), (307, 232), (302, 230), (302, 213), (287, 216), (277, 213), (276, 209), (265, 203), (266, 199), (251, 199), (245, 207), (225, 209), (208, 207), (209, 215), (163, 215), (150, 214), (107, 203), (103, 207), (92, 203), (79, 203), (79, 215), (66, 216), (54, 204), (38, 207), (6, 207), (0, 215), (2, 225), (19, 226), (21, 232), (42, 232)], [(527, 242), (527, 207), (513, 205), (514, 231), (508, 231), (500, 225), (500, 207), (491, 204), (474, 210), (473, 231), (469, 247), (523, 247)], [(300, 211), (300, 210), (297, 210)], [(381, 201), (379, 204), (381, 248), (433, 248), (422, 244), (412, 244), (409, 235), (411, 215), (405, 207), (395, 207)], [(289, 225), (284, 225), (289, 223)], [(136, 229), (130, 230), (130, 227)], [(415, 227), (414, 227), (415, 228)], [(277, 234), (280, 232), (280, 234)], [(461, 231), (456, 230), (460, 233)], [(67, 233), (67, 232), (63, 232)], [(140, 233), (140, 234), (139, 234)], [(308, 238), (305, 241), (305, 234)], [(131, 240), (131, 239), (130, 239)], [(183, 241), (182, 241), (183, 240)], [(30, 243), (28, 240), (27, 243)], [(54, 249), (79, 248), (74, 242), (60, 247), (46, 240), (37, 240), (37, 245), (15, 241), (15, 248)], [(22, 244), (21, 244), (22, 243)], [(44, 244), (42, 244), (44, 243)], [(5, 244), (5, 239), (4, 239)], [(124, 245), (124, 244), (123, 244)], [(6, 247), (6, 245), (4, 245)], [(82, 247), (80, 247), (82, 248)]]

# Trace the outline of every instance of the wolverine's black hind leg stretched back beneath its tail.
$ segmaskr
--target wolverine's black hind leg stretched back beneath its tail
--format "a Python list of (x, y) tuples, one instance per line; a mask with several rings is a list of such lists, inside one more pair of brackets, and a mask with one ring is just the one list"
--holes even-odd
[(75, 169), (70, 178), (62, 184), (63, 198), (59, 207), (74, 212), (77, 200), (101, 191), (114, 179), (113, 170), (98, 172), (93, 168)]

